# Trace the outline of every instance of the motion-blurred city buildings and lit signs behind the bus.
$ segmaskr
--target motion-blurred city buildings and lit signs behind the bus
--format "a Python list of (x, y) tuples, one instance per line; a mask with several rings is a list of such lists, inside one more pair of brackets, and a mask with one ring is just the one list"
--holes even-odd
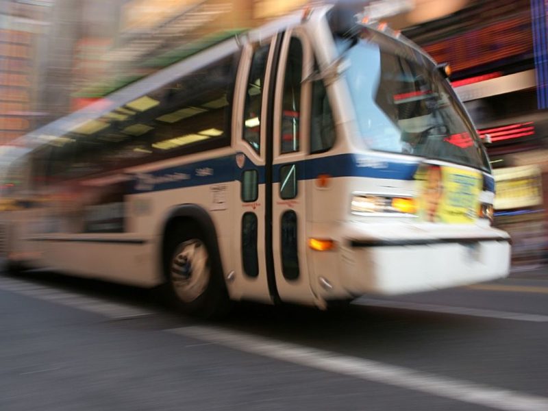
[[(372, 9), (382, 8), (373, 1)], [(397, 0), (386, 20), (438, 62), (484, 138), (514, 273), (547, 254), (547, 8), (541, 0)], [(0, 144), (303, 0), (0, 0)], [(375, 7), (377, 9), (375, 9)], [(384, 9), (386, 10), (386, 4)], [(488, 136), (486, 138), (486, 136)]]

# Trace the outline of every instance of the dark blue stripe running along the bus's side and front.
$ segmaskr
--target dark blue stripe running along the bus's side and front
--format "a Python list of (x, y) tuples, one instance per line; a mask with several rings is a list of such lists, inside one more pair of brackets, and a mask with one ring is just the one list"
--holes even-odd
[[(256, 166), (243, 158), (241, 168), (236, 165), (236, 155), (201, 160), (182, 166), (138, 173), (135, 175), (132, 192), (171, 190), (173, 188), (223, 184), (240, 180), (248, 170), (258, 171), (258, 182), (265, 182), (264, 166)], [(299, 162), (287, 162), (273, 166), (273, 182), (280, 181), (283, 166), (297, 165), (297, 179), (314, 179), (321, 174), (331, 177), (370, 177), (380, 179), (412, 180), (419, 162), (390, 162), (377, 156), (358, 154), (329, 155)], [(494, 191), (495, 180), (484, 175), (484, 189)]]

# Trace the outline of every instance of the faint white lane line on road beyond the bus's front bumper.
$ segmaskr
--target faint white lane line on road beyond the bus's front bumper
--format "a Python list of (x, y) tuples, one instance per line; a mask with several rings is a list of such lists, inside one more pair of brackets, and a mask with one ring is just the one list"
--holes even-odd
[(396, 308), (398, 310), (412, 310), (425, 312), (439, 312), (441, 314), (468, 315), (485, 317), (489, 319), (531, 321), (533, 323), (546, 323), (548, 316), (542, 314), (526, 314), (523, 312), (484, 310), (482, 308), (438, 306), (437, 304), (411, 303), (407, 301), (391, 301), (372, 298), (360, 298), (352, 301), (356, 306)]

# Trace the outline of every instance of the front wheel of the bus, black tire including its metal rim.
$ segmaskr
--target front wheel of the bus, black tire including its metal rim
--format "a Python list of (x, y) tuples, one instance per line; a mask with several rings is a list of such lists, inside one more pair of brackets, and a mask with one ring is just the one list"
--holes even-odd
[[(199, 227), (194, 224), (176, 225), (169, 232), (165, 247), (166, 292), (172, 305), (184, 314), (201, 319), (226, 316), (230, 302), (217, 248), (208, 242)], [(192, 252), (199, 255), (195, 258), (195, 266), (192, 266)]]

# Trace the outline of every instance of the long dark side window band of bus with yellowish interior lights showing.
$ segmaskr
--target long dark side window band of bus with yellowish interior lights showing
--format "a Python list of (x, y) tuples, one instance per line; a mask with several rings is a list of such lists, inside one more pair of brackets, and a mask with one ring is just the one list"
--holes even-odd
[(235, 62), (220, 58), (107, 113), (86, 109), (51, 142), (50, 173), (71, 179), (229, 145)]

